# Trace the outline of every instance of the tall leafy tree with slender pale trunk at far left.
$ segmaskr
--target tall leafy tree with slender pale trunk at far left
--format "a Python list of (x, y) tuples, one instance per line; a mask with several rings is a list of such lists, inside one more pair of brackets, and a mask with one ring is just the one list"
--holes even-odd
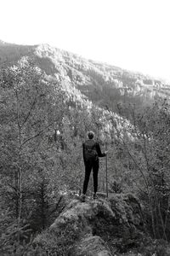
[(41, 166), (35, 161), (36, 155), (48, 153), (48, 134), (54, 121), (60, 121), (63, 94), (59, 84), (26, 58), (16, 66), (2, 68), (0, 82), (0, 166), (20, 222), (27, 175)]

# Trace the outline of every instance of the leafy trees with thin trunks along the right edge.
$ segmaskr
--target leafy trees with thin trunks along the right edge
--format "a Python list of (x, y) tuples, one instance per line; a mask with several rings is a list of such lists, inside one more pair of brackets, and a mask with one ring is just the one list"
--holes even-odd
[[(123, 108), (122, 108), (123, 109)], [(128, 157), (128, 168), (138, 173), (137, 190), (147, 212), (154, 237), (169, 239), (169, 105), (156, 102), (140, 112), (128, 106), (131, 135), (124, 130), (122, 149)], [(131, 171), (131, 172), (132, 172)]]

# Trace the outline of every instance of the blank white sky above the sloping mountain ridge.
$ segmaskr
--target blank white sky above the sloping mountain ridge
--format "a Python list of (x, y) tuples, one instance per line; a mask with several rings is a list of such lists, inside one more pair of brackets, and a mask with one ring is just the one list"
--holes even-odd
[(170, 81), (170, 0), (0, 0), (0, 39)]

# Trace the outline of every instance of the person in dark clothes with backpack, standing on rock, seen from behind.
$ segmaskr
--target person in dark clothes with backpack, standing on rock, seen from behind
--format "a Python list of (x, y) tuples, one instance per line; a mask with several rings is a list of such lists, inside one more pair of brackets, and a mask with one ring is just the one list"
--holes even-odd
[(88, 140), (85, 143), (82, 143), (82, 154), (85, 166), (82, 201), (85, 201), (86, 192), (88, 189), (88, 181), (92, 169), (94, 176), (94, 199), (96, 199), (96, 192), (98, 190), (99, 157), (104, 157), (107, 154), (107, 151), (105, 151), (103, 154), (101, 153), (99, 143), (94, 141), (93, 131), (88, 132)]

